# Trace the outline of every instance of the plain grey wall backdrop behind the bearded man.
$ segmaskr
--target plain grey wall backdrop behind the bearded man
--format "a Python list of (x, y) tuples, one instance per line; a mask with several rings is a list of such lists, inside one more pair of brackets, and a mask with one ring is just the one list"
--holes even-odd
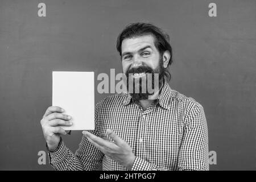
[[(46, 17), (38, 3), (46, 3)], [(217, 17), (209, 17), (209, 3)], [(126, 24), (151, 22), (171, 37), (172, 89), (204, 107), (211, 170), (255, 169), (256, 1), (0, 1), (0, 169), (52, 169), (40, 119), (52, 71), (121, 72), (115, 41)], [(100, 81), (96, 80), (97, 84)], [(96, 92), (95, 102), (108, 94)], [(81, 131), (65, 136), (78, 148)]]

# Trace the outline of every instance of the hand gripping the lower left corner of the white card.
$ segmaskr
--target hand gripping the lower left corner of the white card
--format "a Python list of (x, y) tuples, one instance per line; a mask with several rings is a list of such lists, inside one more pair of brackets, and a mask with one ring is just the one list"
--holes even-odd
[(44, 139), (50, 151), (54, 151), (60, 142), (60, 134), (67, 134), (61, 126), (71, 126), (71, 116), (62, 114), (64, 109), (58, 106), (50, 106), (41, 119)]

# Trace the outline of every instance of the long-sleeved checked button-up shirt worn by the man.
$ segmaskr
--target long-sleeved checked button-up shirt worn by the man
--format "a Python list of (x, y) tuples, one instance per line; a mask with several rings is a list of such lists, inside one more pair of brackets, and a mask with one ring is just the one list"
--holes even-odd
[[(208, 129), (203, 107), (164, 82), (158, 102), (146, 110), (129, 93), (114, 94), (98, 102), (96, 130), (91, 133), (113, 142), (112, 129), (136, 156), (131, 170), (208, 170)], [(127, 170), (105, 156), (83, 135), (73, 154), (64, 144), (48, 152), (56, 170)]]

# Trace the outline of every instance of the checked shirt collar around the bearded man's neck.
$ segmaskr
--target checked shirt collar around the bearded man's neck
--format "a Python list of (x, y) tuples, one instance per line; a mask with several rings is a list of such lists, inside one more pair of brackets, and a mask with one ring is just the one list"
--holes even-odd
[[(162, 89), (160, 90), (160, 94), (158, 96), (158, 103), (161, 107), (164, 109), (170, 109), (171, 107), (171, 91), (172, 89), (170, 88), (169, 84), (167, 81), (164, 81), (164, 85)], [(123, 105), (128, 105), (130, 104), (132, 97), (128, 92), (123, 92), (124, 94), (124, 100), (123, 100)]]

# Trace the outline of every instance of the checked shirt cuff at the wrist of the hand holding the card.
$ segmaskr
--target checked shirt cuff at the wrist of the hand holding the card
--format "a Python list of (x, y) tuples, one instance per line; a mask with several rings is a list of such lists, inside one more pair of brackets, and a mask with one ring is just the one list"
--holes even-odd
[(57, 164), (65, 159), (68, 153), (68, 148), (65, 146), (63, 140), (60, 139), (59, 146), (54, 151), (49, 151), (48, 146), (47, 146), (47, 151), (49, 155), (49, 163)]

